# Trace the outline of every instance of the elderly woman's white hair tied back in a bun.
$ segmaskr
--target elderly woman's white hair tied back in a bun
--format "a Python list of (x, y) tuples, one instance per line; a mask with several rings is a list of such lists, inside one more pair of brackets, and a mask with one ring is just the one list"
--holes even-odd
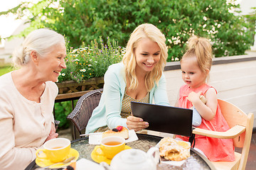
[(34, 50), (43, 57), (51, 52), (51, 47), (60, 44), (65, 44), (65, 38), (54, 30), (48, 28), (33, 30), (22, 42), (21, 47), (14, 51), (12, 55), (14, 67), (26, 65), (31, 60), (31, 51)]

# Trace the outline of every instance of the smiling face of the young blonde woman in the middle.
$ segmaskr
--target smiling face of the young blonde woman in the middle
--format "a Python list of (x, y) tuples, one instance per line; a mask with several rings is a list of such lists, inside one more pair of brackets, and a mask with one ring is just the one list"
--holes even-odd
[(149, 38), (142, 38), (134, 50), (136, 58), (136, 72), (151, 72), (160, 60), (161, 48)]

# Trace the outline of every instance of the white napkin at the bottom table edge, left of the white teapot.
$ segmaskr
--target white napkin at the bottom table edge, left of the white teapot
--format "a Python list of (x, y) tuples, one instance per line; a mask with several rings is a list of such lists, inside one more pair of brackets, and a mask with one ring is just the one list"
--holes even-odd
[(103, 166), (92, 162), (88, 159), (82, 158), (76, 162), (76, 170), (87, 170), (87, 169), (97, 169), (97, 170), (105, 170)]

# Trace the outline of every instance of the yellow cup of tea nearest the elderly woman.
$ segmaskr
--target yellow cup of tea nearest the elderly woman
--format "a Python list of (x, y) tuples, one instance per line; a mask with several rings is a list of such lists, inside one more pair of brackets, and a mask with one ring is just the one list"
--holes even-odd
[(49, 159), (50, 162), (62, 162), (68, 158), (69, 153), (70, 140), (66, 138), (55, 138), (45, 142), (42, 149), (37, 149), (36, 157), (38, 159)]

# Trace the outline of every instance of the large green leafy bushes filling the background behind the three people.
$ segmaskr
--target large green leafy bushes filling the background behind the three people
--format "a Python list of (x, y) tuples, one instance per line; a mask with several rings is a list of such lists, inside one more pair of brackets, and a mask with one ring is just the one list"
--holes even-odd
[(99, 37), (104, 42), (110, 37), (125, 47), (134, 28), (152, 23), (166, 35), (170, 62), (180, 59), (193, 34), (211, 40), (215, 57), (244, 54), (252, 44), (252, 31), (245, 17), (230, 13), (239, 9), (234, 1), (41, 0), (0, 14), (11, 12), (21, 17), (29, 13), (31, 28), (52, 28), (65, 35), (75, 48), (82, 42), (99, 42)]

